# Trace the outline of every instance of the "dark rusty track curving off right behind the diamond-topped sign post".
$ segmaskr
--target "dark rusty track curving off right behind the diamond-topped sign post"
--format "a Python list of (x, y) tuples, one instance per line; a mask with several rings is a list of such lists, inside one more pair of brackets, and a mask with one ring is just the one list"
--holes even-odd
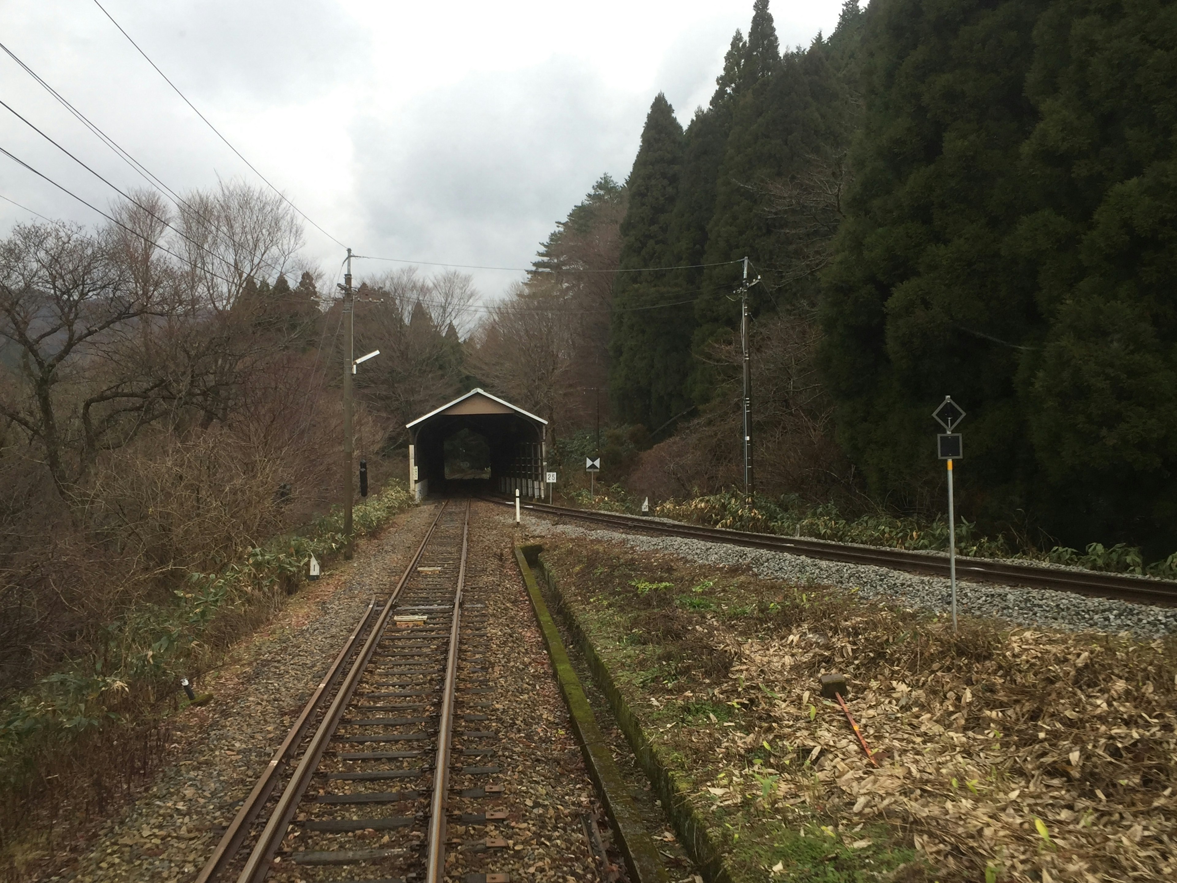
[[(501, 503), (501, 500), (494, 500)], [(514, 500), (508, 504), (513, 505)], [(624, 531), (643, 531), (671, 537), (701, 539), (707, 543), (727, 543), (751, 549), (767, 549), (774, 552), (845, 562), (847, 564), (871, 564), (878, 567), (904, 570), (924, 576), (947, 577), (949, 559), (935, 552), (911, 552), (902, 549), (879, 549), (845, 543), (832, 543), (807, 537), (780, 537), (772, 533), (701, 527), (693, 524), (657, 522), (640, 516), (616, 512), (594, 512), (583, 509), (552, 506), (545, 503), (526, 503), (524, 509), (544, 514), (576, 518), (584, 522), (618, 527)], [(1011, 586), (1032, 586), (1056, 591), (1091, 595), (1100, 598), (1117, 598), (1137, 604), (1177, 606), (1177, 583), (1149, 577), (1131, 577), (1118, 573), (1096, 573), (1033, 564), (969, 558), (957, 556), (957, 579), (976, 583), (996, 583)]]

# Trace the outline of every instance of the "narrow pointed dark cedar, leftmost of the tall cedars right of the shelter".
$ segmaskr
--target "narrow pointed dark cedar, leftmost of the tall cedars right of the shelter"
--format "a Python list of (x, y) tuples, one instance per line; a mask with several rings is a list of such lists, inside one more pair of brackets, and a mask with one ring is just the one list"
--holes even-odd
[(614, 285), (610, 339), (610, 399), (614, 417), (650, 430), (690, 405), (691, 312), (669, 272), (626, 272), (674, 265), (671, 218), (683, 164), (683, 127), (661, 93), (641, 132), (626, 180), (629, 207), (621, 221), (621, 258)]

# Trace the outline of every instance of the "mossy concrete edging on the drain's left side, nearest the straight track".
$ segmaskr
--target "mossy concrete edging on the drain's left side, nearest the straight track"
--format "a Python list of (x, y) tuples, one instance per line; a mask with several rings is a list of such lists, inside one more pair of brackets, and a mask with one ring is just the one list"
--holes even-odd
[[(519, 572), (523, 575), (524, 584), (527, 586), (527, 595), (531, 598), (532, 610), (539, 623), (539, 630), (544, 635), (544, 643), (547, 645), (547, 653), (552, 659), (552, 670), (556, 672), (556, 680), (560, 685), (560, 695), (568, 708), (568, 716), (572, 721), (572, 731), (585, 757), (585, 765), (592, 777), (597, 792), (605, 804), (605, 811), (617, 831), (618, 847), (625, 857), (626, 869), (630, 878), (634, 883), (669, 883), (669, 875), (663, 864), (658, 848), (650, 838), (641, 822), (641, 812), (630, 797), (625, 781), (621, 778), (613, 755), (610, 752), (609, 743), (597, 726), (597, 718), (593, 717), (592, 706), (585, 696), (584, 688), (580, 686), (580, 678), (577, 677), (568, 660), (564, 640), (556, 628), (556, 622), (547, 610), (544, 596), (539, 591), (539, 584), (532, 573), (530, 560), (536, 560), (539, 555), (538, 546), (516, 546), (516, 560), (519, 563)], [(528, 560), (530, 559), (530, 560)]]

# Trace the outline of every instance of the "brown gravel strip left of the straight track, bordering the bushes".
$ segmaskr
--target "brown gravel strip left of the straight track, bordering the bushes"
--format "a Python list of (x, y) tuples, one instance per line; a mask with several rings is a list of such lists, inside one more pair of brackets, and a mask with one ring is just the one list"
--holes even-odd
[(175, 744), (155, 783), (49, 879), (195, 877), (368, 602), (395, 584), (435, 513), (414, 507), (361, 540), (354, 560), (332, 565), (198, 680), (195, 689), (214, 698), (168, 722)]

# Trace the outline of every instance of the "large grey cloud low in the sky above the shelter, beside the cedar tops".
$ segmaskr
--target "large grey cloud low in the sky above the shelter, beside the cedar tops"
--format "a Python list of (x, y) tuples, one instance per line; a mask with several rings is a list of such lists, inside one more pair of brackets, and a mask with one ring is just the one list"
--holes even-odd
[[(472, 75), (352, 132), (358, 200), (391, 257), (528, 261), (604, 172), (629, 172), (647, 100), (568, 59)], [(484, 293), (501, 274), (478, 273)]]

